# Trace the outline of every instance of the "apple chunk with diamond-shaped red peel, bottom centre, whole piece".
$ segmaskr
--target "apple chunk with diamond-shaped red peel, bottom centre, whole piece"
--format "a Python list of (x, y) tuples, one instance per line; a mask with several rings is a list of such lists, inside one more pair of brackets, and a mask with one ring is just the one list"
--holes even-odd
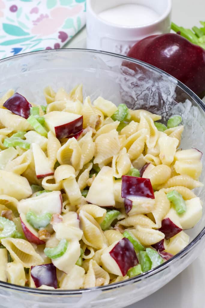
[(101, 260), (108, 273), (118, 276), (125, 276), (131, 267), (138, 264), (135, 249), (126, 237), (106, 248)]

